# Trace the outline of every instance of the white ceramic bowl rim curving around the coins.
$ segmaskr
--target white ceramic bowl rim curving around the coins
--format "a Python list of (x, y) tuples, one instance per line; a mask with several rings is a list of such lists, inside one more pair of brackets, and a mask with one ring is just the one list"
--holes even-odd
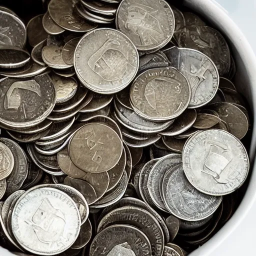
[[(256, 52), (256, 35), (252, 24), (256, 22), (256, 0), (184, 0), (185, 4), (210, 19), (231, 41), (236, 58), (237, 82), (256, 113), (256, 57), (244, 34)], [(234, 19), (236, 25), (232, 19)], [(254, 20), (254, 22), (253, 22)], [(250, 25), (248, 25), (250, 24)], [(241, 32), (241, 30), (243, 33)], [(250, 158), (254, 158), (256, 129), (253, 130)], [(251, 170), (255, 167), (251, 165)], [(221, 230), (190, 256), (255, 256), (254, 218), (256, 213), (256, 170), (242, 203)], [(0, 256), (13, 255), (0, 248)]]

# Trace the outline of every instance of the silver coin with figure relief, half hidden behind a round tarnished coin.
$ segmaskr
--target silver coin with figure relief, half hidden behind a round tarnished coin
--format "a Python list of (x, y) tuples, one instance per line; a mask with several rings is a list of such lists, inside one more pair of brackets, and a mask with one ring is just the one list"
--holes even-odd
[(219, 76), (213, 61), (195, 49), (172, 47), (163, 51), (171, 65), (177, 68), (191, 86), (189, 107), (200, 107), (208, 103), (216, 94)]

